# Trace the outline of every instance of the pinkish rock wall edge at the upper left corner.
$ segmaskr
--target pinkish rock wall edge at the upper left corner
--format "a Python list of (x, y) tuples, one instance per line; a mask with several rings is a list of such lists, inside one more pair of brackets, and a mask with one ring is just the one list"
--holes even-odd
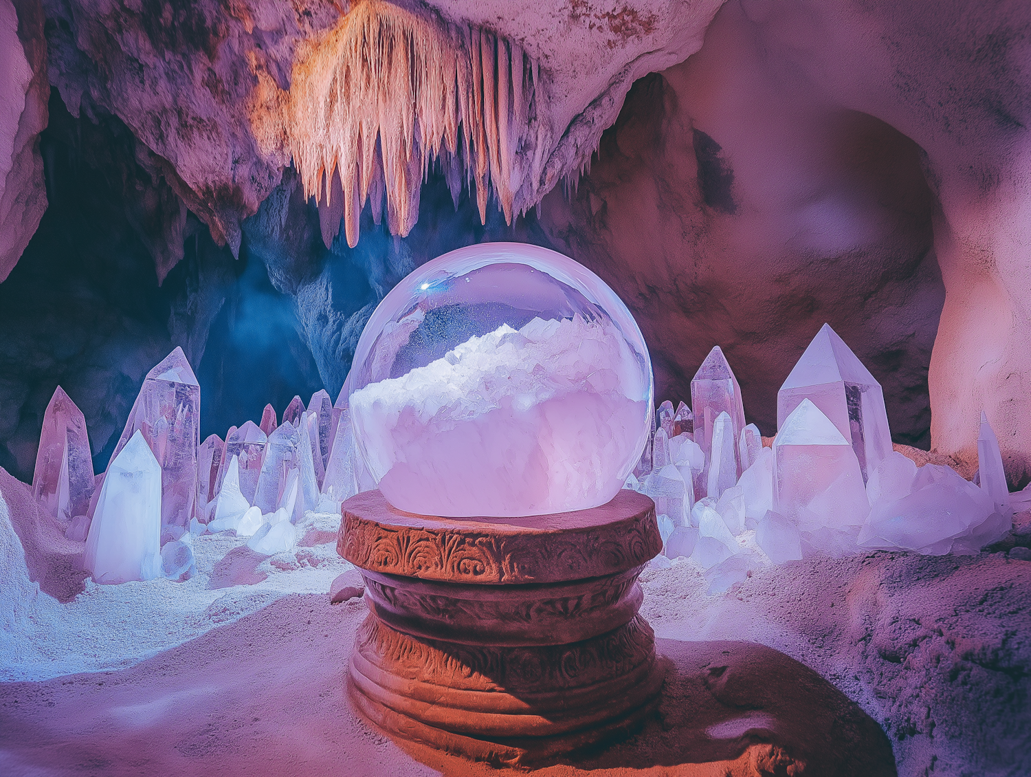
[(0, 283), (46, 209), (39, 133), (46, 126), (46, 44), (39, 0), (0, 2)]

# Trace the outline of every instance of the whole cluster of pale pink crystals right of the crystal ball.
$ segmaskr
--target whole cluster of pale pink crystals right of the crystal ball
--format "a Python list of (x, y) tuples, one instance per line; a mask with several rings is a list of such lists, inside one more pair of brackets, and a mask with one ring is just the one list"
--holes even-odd
[(659, 406), (651, 445), (625, 487), (656, 503), (665, 552), (653, 563), (684, 556), (712, 591), (758, 564), (805, 555), (976, 553), (1012, 524), (985, 415), (976, 483), (950, 466), (918, 467), (893, 450), (880, 386), (827, 325), (779, 391), (770, 447), (744, 423), (740, 387), (719, 348), (691, 396), (690, 410)]

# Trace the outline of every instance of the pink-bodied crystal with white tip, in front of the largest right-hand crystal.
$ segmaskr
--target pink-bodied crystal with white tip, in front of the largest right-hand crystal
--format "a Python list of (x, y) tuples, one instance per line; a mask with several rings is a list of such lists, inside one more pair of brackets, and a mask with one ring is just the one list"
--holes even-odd
[(869, 513), (852, 446), (807, 398), (773, 442), (773, 510), (801, 531), (859, 526)]

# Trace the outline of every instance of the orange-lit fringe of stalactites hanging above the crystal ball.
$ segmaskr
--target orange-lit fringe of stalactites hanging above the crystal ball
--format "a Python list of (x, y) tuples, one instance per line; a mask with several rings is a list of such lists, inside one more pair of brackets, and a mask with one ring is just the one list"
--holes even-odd
[(540, 69), (518, 43), (380, 0), (362, 0), (295, 64), (290, 140), (327, 246), (347, 245), (371, 200), (406, 235), (420, 187), (439, 165), (456, 205), (463, 179), (480, 219), (493, 192), (511, 223), (534, 205), (551, 133)]

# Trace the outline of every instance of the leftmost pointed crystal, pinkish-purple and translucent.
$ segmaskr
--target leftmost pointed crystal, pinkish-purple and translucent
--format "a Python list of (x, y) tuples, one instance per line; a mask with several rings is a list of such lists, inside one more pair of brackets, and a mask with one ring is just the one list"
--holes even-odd
[(32, 494), (62, 521), (87, 515), (93, 496), (93, 460), (86, 418), (60, 386), (43, 414)]

